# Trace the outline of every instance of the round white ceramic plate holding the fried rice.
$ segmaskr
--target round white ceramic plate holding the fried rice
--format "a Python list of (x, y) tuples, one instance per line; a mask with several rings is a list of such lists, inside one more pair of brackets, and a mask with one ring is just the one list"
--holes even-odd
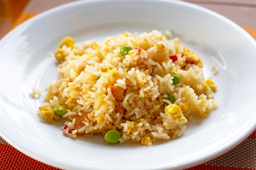
[[(58, 76), (54, 52), (65, 36), (77, 43), (104, 40), (129, 31), (170, 29), (205, 63), (204, 76), (218, 85), (217, 110), (193, 119), (182, 137), (153, 144), (106, 144), (101, 135), (70, 139), (63, 122), (38, 117), (44, 89)], [(177, 170), (198, 165), (238, 145), (256, 128), (256, 42), (223, 16), (171, 0), (78, 1), (51, 9), (21, 24), (0, 41), (0, 135), (30, 157), (67, 170)]]

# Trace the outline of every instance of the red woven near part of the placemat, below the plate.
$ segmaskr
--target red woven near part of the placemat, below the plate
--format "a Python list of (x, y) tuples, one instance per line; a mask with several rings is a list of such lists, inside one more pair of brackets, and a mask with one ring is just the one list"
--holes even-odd
[[(186, 170), (256, 170), (256, 131), (229, 152)], [(0, 170), (60, 170), (24, 155), (0, 137)]]

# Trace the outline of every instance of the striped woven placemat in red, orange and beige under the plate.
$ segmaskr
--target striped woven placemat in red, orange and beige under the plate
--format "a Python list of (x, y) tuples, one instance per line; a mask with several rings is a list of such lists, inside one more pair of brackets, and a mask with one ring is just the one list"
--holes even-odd
[[(74, 0), (30, 0), (13, 27)], [(256, 39), (256, 0), (185, 0), (206, 7), (242, 26)], [(256, 56), (255, 56), (256, 57)], [(60, 170), (24, 155), (0, 137), (0, 170)], [(229, 152), (186, 170), (256, 170), (256, 131)]]

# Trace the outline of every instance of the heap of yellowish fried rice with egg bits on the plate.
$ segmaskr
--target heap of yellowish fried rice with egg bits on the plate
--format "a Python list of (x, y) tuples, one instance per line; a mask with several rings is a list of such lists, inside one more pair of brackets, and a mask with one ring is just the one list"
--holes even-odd
[[(125, 56), (120, 54), (123, 45), (132, 48)], [(65, 120), (62, 129), (69, 137), (116, 129), (120, 143), (151, 146), (180, 137), (188, 119), (206, 117), (218, 104), (213, 99), (217, 86), (204, 79), (200, 57), (160, 31), (125, 32), (80, 46), (67, 37), (55, 57), (59, 77), (47, 86), (39, 110), (49, 123)], [(180, 76), (180, 83), (173, 84), (171, 75)], [(167, 94), (175, 97), (173, 104)], [(54, 114), (58, 105), (67, 109), (61, 117)]]

